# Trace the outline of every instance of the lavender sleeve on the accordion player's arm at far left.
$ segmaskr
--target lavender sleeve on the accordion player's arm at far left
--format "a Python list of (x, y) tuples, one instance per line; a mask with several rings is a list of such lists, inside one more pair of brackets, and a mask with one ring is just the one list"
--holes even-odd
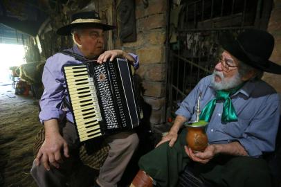
[(52, 118), (60, 119), (64, 115), (62, 110), (62, 100), (64, 98), (64, 77), (62, 69), (56, 63), (54, 57), (50, 57), (42, 75), (44, 93), (40, 100), (41, 112), (39, 118), (41, 123)]

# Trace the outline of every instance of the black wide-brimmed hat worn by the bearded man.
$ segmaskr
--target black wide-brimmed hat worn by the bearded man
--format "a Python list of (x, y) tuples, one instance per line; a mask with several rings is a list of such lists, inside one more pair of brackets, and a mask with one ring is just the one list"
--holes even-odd
[(219, 40), (221, 46), (238, 60), (262, 71), (281, 74), (281, 66), (269, 60), (274, 38), (266, 31), (246, 29), (237, 38), (224, 33)]

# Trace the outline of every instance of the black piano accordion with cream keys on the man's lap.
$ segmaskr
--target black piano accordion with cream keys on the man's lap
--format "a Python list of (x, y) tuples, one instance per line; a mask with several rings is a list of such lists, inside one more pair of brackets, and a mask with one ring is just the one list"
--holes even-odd
[(80, 141), (139, 125), (139, 108), (127, 60), (66, 64), (63, 71)]

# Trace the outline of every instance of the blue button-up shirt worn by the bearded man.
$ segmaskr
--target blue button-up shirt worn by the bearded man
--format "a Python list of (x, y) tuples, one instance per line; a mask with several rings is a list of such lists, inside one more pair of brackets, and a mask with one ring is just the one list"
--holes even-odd
[[(201, 110), (215, 98), (215, 90), (210, 86), (211, 78), (209, 75), (200, 80), (183, 100), (176, 115), (185, 116), (190, 121), (196, 120), (199, 94), (202, 94)], [(221, 122), (224, 102), (217, 102), (206, 130), (209, 143), (239, 141), (251, 157), (260, 157), (262, 152), (272, 152), (280, 118), (280, 98), (276, 91), (262, 80), (248, 81), (230, 98), (238, 121)]]

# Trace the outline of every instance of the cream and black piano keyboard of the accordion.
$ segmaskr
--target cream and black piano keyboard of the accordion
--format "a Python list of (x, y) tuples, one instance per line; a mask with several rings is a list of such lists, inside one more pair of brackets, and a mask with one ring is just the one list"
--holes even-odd
[(87, 66), (64, 66), (75, 123), (80, 141), (101, 136), (99, 121), (102, 121), (96, 88), (89, 78)]

